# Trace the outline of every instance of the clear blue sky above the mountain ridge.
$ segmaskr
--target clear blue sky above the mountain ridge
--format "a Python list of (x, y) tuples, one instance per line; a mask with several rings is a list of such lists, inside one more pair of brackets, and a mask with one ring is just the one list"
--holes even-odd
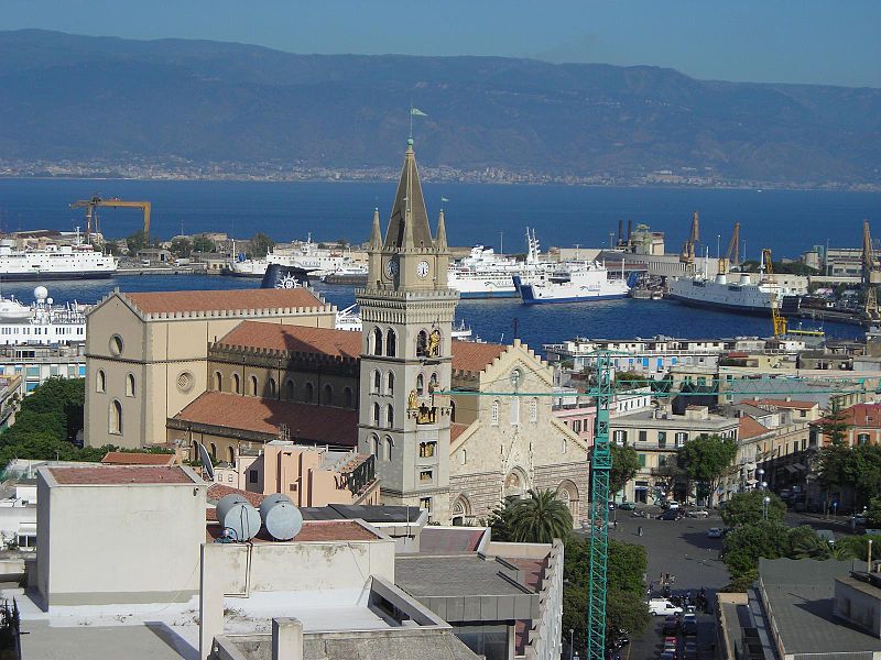
[(291, 53), (498, 55), (881, 87), (879, 0), (2, 0), (0, 30)]

